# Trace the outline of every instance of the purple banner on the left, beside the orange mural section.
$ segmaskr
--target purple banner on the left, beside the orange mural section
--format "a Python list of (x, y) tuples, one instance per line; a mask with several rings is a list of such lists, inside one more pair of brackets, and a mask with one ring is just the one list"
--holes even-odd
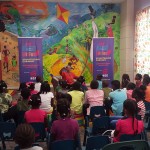
[(19, 38), (20, 82), (35, 82), (43, 76), (42, 38)]

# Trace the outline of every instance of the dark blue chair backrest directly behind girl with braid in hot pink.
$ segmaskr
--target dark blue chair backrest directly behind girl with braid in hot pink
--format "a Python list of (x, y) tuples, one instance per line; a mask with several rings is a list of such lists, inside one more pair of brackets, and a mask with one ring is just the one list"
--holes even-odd
[(141, 140), (141, 138), (142, 138), (141, 134), (123, 134), (120, 136), (120, 142)]

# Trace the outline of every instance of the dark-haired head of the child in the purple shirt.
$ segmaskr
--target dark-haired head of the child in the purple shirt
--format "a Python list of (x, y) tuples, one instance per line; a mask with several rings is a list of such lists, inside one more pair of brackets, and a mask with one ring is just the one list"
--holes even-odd
[(67, 98), (61, 98), (57, 101), (57, 112), (61, 118), (65, 118), (70, 113), (70, 103)]

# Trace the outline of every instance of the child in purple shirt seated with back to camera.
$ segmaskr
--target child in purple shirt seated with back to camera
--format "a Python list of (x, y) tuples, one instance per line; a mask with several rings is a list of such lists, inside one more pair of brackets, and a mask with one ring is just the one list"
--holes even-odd
[(75, 119), (70, 118), (70, 103), (66, 98), (57, 101), (57, 113), (59, 117), (52, 124), (50, 141), (79, 141), (79, 125)]

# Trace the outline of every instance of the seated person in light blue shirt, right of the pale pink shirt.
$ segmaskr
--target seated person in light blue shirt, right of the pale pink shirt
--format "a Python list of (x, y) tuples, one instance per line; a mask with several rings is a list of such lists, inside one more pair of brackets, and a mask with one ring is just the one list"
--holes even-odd
[(113, 92), (109, 93), (112, 99), (112, 111), (115, 116), (121, 116), (123, 112), (123, 102), (127, 99), (126, 90), (120, 89), (120, 81), (113, 80), (111, 82)]

